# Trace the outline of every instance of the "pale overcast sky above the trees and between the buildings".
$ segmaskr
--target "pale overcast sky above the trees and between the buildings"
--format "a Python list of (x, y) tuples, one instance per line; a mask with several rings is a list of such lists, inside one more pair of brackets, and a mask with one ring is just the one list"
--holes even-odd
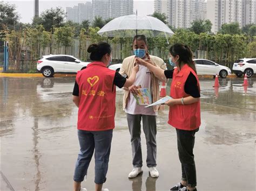
[[(90, 0), (87, 0), (90, 1)], [(154, 0), (133, 0), (134, 12), (138, 10), (138, 15), (150, 15), (154, 12)], [(19, 1), (19, 0), (4, 0), (10, 4), (16, 5), (16, 10), (21, 16), (22, 23), (31, 23), (33, 18), (33, 0)], [(78, 3), (85, 3), (86, 1), (67, 1), (67, 0), (39, 0), (39, 15), (45, 9), (55, 8), (56, 6), (62, 7), (66, 11), (67, 6), (75, 6)]]

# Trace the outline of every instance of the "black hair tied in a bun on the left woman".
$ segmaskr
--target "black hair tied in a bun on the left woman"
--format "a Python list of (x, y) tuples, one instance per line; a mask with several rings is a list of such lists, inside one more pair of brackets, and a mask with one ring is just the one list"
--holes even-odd
[(108, 43), (100, 42), (98, 44), (91, 44), (87, 52), (90, 54), (90, 59), (92, 61), (100, 61), (102, 60), (105, 54), (111, 54), (112, 48)]

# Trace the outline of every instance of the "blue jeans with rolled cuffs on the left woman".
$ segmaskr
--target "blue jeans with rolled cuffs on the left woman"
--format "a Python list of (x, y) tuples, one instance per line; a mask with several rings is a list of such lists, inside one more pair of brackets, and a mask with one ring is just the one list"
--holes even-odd
[(107, 168), (113, 130), (83, 131), (78, 130), (80, 152), (78, 154), (73, 180), (82, 182), (87, 174), (95, 150), (95, 183), (101, 185), (106, 181)]

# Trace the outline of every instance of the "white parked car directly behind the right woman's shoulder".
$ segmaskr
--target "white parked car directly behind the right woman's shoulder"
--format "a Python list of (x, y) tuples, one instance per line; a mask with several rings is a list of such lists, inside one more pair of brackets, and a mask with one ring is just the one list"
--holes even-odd
[(220, 77), (225, 78), (227, 75), (231, 75), (231, 69), (219, 65), (211, 60), (205, 59), (194, 59), (196, 63), (196, 69), (198, 75), (213, 75), (218, 74)]

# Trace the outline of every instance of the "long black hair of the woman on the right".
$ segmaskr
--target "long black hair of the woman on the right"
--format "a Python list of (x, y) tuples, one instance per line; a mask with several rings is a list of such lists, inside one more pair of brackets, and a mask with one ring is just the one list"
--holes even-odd
[(197, 73), (196, 65), (193, 61), (193, 53), (187, 45), (184, 44), (174, 44), (170, 48), (170, 53), (172, 56), (179, 55), (179, 64), (178, 67), (180, 68), (181, 62), (186, 63), (189, 67), (191, 67), (194, 72)]

